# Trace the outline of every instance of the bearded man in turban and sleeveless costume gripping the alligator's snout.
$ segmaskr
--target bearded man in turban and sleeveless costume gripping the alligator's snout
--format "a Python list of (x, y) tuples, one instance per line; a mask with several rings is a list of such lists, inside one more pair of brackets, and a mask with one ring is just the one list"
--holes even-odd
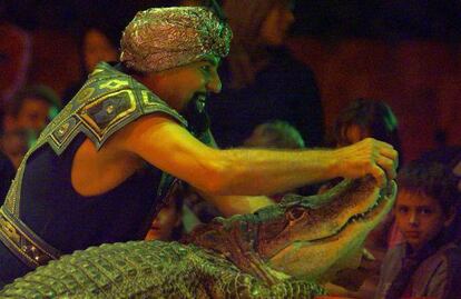
[(208, 92), (220, 90), (217, 67), (230, 36), (205, 8), (135, 17), (121, 38), (121, 64), (98, 64), (18, 170), (0, 213), (4, 282), (76, 249), (143, 239), (170, 176), (226, 216), (271, 203), (236, 196), (337, 176), (372, 173), (381, 182), (395, 176), (396, 152), (372, 139), (295, 152), (218, 150), (199, 141), (213, 143), (203, 104)]

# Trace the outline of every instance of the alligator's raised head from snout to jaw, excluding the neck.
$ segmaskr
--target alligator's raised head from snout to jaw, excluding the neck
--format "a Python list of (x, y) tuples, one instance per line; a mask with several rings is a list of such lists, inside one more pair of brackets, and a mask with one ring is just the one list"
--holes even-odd
[(367, 233), (390, 211), (396, 185), (379, 188), (372, 177), (344, 180), (314, 197), (286, 196), (256, 212), (255, 250), (274, 270), (324, 280), (359, 266)]

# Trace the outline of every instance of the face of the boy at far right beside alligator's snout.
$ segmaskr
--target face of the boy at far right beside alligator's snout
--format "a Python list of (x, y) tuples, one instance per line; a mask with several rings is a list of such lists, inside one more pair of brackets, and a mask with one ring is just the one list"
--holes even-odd
[(414, 250), (421, 249), (452, 221), (435, 199), (405, 189), (399, 190), (394, 215), (399, 229)]

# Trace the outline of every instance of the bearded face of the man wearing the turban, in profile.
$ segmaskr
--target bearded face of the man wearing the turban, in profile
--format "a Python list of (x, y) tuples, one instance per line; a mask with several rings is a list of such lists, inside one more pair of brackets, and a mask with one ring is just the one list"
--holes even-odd
[(205, 104), (208, 92), (220, 91), (218, 63), (219, 59), (209, 57), (155, 73), (151, 89), (177, 111), (184, 111), (193, 99)]

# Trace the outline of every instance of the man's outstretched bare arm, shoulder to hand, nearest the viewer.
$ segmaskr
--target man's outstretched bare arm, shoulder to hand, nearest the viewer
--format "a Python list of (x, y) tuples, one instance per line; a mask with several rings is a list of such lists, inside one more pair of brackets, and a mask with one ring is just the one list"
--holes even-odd
[(218, 150), (158, 114), (129, 126), (120, 144), (212, 195), (271, 195), (335, 177), (395, 176), (396, 152), (373, 139), (339, 150)]

